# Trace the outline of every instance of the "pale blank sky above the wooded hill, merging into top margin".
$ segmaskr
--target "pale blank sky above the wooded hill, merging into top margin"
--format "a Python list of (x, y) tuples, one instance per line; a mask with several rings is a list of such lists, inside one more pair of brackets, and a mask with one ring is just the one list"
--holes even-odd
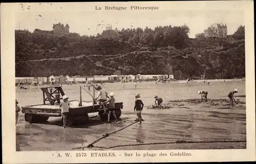
[[(105, 30), (107, 24), (112, 25), (112, 29), (117, 28), (142, 28), (146, 26), (154, 29), (156, 26), (164, 25), (188, 25), (189, 38), (195, 38), (195, 34), (203, 33), (204, 29), (213, 23), (227, 24), (227, 34), (233, 34), (240, 25), (244, 25), (244, 11), (238, 7), (230, 9), (210, 8), (207, 4), (200, 8), (180, 9), (175, 7), (160, 6), (161, 10), (154, 11), (109, 11), (95, 10), (95, 6), (104, 8), (105, 4), (90, 4), (82, 6), (84, 3), (75, 5), (58, 3), (27, 3), (17, 4), (15, 14), (15, 30), (27, 29), (33, 32), (35, 29), (53, 30), (53, 24), (58, 22), (66, 23), (70, 26), (70, 33), (82, 35), (97, 35)], [(90, 6), (90, 7), (89, 7)], [(108, 6), (120, 6), (111, 4)], [(130, 7), (130, 5), (123, 5)], [(140, 5), (141, 6), (141, 5)], [(177, 5), (178, 6), (178, 5)], [(217, 5), (218, 6), (218, 5)], [(202, 10), (203, 9), (203, 10)]]

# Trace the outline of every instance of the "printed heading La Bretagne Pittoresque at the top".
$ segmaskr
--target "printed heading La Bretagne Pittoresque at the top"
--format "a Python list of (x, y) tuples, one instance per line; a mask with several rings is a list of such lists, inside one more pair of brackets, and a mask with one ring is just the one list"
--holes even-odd
[(130, 7), (117, 7), (117, 6), (104, 6), (99, 7), (95, 6), (95, 10), (159, 10), (159, 7), (157, 6), (130, 6)]

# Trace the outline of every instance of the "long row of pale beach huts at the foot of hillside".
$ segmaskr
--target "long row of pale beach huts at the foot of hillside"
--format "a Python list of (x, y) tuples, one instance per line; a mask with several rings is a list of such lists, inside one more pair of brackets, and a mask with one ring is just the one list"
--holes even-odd
[(72, 82), (74, 80), (76, 81), (104, 81), (104, 82), (115, 82), (115, 81), (121, 81), (121, 80), (157, 80), (157, 79), (165, 79), (170, 78), (174, 79), (173, 75), (167, 75), (167, 74), (160, 74), (160, 75), (94, 75), (94, 76), (69, 76), (69, 75), (60, 75), (60, 76), (54, 76), (51, 75), (50, 77), (16, 77), (15, 83), (51, 83), (51, 82), (60, 82), (60, 83), (66, 83), (66, 82)]

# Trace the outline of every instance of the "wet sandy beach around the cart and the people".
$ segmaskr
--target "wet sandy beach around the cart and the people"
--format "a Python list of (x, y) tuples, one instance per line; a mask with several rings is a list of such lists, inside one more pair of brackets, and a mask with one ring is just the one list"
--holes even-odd
[[(245, 82), (210, 84), (155, 84), (138, 83), (137, 90), (133, 84), (106, 84), (103, 88), (115, 92), (116, 100), (124, 102), (122, 115), (117, 123), (101, 122), (99, 117), (92, 117), (87, 125), (63, 129), (61, 118), (50, 117), (45, 124), (28, 124), (24, 114), (20, 113), (16, 126), (17, 139), (21, 151), (51, 150), (153, 150), (153, 149), (246, 149), (246, 142), (223, 142), (246, 140), (245, 116)], [(235, 99), (239, 104), (229, 106), (227, 93), (239, 89)], [(71, 100), (79, 99), (78, 86), (63, 86), (64, 92)], [(209, 92), (207, 103), (201, 102), (198, 90)], [(95, 143), (105, 133), (111, 133), (130, 125), (136, 119), (133, 112), (134, 94), (140, 93), (146, 105), (141, 125), (133, 124), (110, 134)], [(163, 98), (163, 109), (156, 108), (154, 96)], [(83, 100), (90, 97), (83, 93)], [(20, 106), (41, 104), (40, 90), (17, 90), (16, 98)], [(183, 100), (182, 100), (183, 99)], [(93, 116), (94, 114), (91, 114)], [(216, 142), (190, 144), (158, 144), (177, 141)], [(145, 144), (137, 146), (127, 146)], [(116, 147), (120, 146), (120, 147)], [(105, 147), (105, 148), (98, 148)], [(111, 148), (110, 148), (111, 147)], [(109, 148), (109, 149), (108, 149)]]

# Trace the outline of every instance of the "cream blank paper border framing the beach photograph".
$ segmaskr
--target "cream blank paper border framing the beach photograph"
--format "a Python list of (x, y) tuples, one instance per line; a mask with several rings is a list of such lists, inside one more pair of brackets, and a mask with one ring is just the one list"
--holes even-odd
[[(122, 4), (125, 3), (114, 3)], [(127, 3), (126, 3), (127, 4)], [(1, 70), (2, 70), (2, 142), (3, 163), (92, 163), (92, 162), (177, 162), (177, 161), (252, 161), (255, 160), (255, 87), (254, 87), (254, 22), (253, 1), (215, 1), (215, 2), (136, 2), (129, 4), (155, 5), (161, 10), (200, 10), (207, 7), (212, 10), (245, 11), (245, 52), (246, 52), (246, 149), (224, 150), (104, 150), (84, 151), (90, 152), (115, 152), (116, 157), (75, 157), (75, 153), (83, 151), (15, 151), (15, 114), (12, 110), (15, 99), (15, 45), (14, 27), (15, 12), (18, 4), (1, 4)], [(222, 5), (220, 5), (222, 4)], [(94, 10), (95, 3), (70, 3), (58, 5), (72, 6), (71, 10)], [(83, 6), (83, 8), (81, 7)], [(74, 7), (74, 8), (73, 8)], [(218, 7), (218, 8), (216, 8)], [(38, 9), (35, 10), (40, 10)], [(154, 12), (154, 11), (153, 11)], [(13, 104), (13, 105), (12, 105)], [(124, 157), (119, 154), (128, 153), (167, 153), (191, 152), (193, 156), (157, 156), (157, 157)], [(60, 153), (63, 157), (57, 157)], [(64, 157), (64, 153), (72, 153), (72, 157)]]

